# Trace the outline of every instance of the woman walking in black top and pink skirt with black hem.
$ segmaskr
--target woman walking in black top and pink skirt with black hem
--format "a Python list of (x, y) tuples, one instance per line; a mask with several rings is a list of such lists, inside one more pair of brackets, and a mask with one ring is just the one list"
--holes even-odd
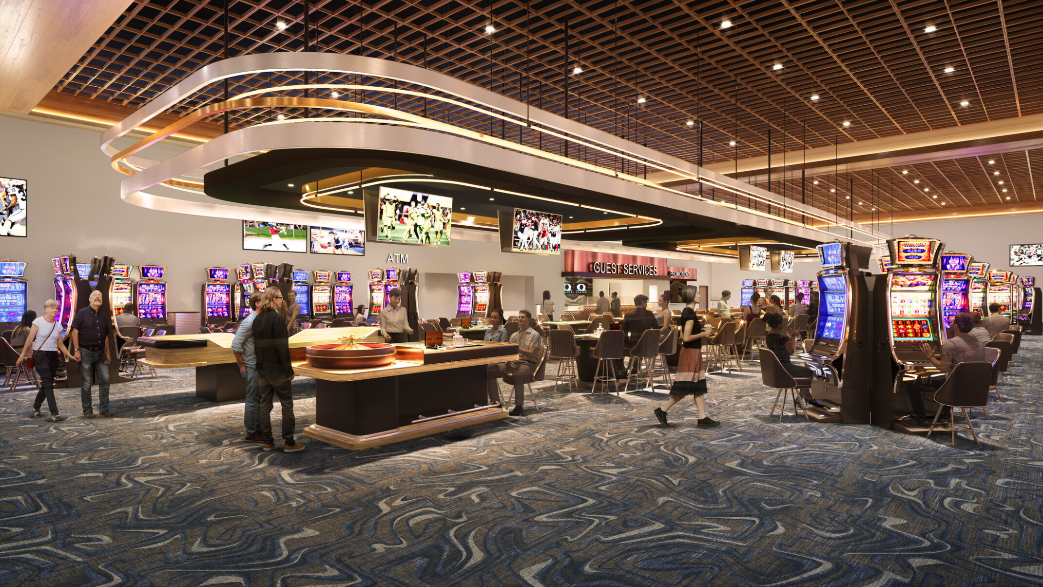
[(712, 333), (704, 332), (703, 324), (696, 314), (696, 302), (699, 299), (699, 290), (695, 286), (685, 286), (681, 290), (681, 301), (684, 302), (684, 310), (681, 311), (681, 353), (677, 361), (677, 375), (674, 384), (670, 388), (670, 400), (663, 406), (656, 408), (653, 412), (659, 423), (669, 426), (666, 413), (675, 403), (692, 395), (696, 401), (696, 409), (699, 410), (698, 425), (703, 427), (715, 426), (721, 422), (706, 415), (706, 402), (703, 398), (706, 395), (706, 367), (703, 364), (703, 339), (712, 336)]

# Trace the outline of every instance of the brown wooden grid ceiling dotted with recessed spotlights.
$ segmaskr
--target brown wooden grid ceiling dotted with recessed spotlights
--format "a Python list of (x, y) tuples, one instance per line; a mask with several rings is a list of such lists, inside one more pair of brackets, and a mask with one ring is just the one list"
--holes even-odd
[[(305, 49), (305, 2), (227, 3), (229, 56)], [(783, 152), (805, 148), (1043, 113), (1039, 0), (312, 0), (307, 7), (309, 50), (428, 67), (693, 163), (769, 151), (781, 160)], [(223, 0), (136, 1), (54, 90), (145, 104), (222, 58), (222, 9)], [(724, 20), (733, 26), (723, 28)], [(280, 21), (286, 28), (276, 26)], [(490, 23), (496, 31), (486, 34)], [(929, 26), (936, 29), (926, 32)], [(573, 75), (577, 66), (583, 72)], [(384, 84), (351, 76), (311, 79)], [(229, 91), (293, 81), (302, 76), (264, 74), (233, 79)], [(205, 89), (180, 113), (218, 101), (221, 92)], [(372, 93), (351, 97), (563, 150), (535, 133), (492, 126), (453, 107)], [(646, 102), (638, 104), (638, 98)], [(280, 114), (305, 113), (251, 111), (233, 116), (231, 124)], [(575, 147), (569, 155), (640, 172)], [(806, 184), (798, 171), (770, 189), (845, 217), (930, 210), (943, 201), (957, 207), (1033, 202), (1041, 163), (1043, 149), (1030, 149), (902, 168), (839, 169), (806, 177)]]

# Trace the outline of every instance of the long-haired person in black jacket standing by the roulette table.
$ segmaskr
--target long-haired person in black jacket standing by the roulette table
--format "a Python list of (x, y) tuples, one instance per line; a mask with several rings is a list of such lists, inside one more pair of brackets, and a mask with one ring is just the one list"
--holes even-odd
[(293, 417), (293, 365), (290, 363), (290, 341), (283, 319), (283, 292), (271, 287), (264, 291), (250, 328), (253, 331), (253, 351), (257, 357), (258, 390), (260, 394), (261, 437), (263, 448), (275, 448), (271, 433), (271, 410), (274, 397), (283, 407), (283, 451), (298, 453), (305, 447), (293, 438), (296, 420)]

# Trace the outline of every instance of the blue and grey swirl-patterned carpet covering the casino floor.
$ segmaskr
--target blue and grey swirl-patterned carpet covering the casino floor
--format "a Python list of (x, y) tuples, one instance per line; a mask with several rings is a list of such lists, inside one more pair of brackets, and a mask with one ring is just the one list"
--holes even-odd
[(753, 363), (710, 376), (717, 429), (543, 386), (538, 415), (361, 453), (245, 444), (191, 370), (114, 386), (111, 420), (5, 391), (0, 584), (1038, 586), (1043, 341), (1017, 359), (980, 447), (779, 423)]

